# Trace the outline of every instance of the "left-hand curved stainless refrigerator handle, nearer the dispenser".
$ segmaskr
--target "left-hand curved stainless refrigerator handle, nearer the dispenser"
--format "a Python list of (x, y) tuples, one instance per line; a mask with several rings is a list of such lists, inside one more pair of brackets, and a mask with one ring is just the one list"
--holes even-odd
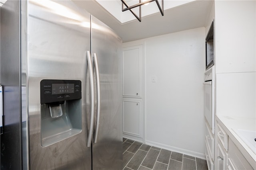
[(89, 78), (90, 78), (90, 92), (91, 92), (91, 117), (90, 117), (90, 129), (88, 133), (87, 147), (90, 147), (92, 144), (92, 133), (93, 133), (93, 123), (94, 123), (94, 76), (93, 76), (93, 66), (92, 66), (92, 57), (90, 51), (86, 51), (88, 69), (89, 69)]

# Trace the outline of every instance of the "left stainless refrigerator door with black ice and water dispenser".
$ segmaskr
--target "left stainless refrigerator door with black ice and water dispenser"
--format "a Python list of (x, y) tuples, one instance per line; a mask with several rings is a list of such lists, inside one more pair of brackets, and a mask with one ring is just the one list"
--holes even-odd
[[(81, 10), (71, 1), (29, 1), (28, 2), (28, 42), (27, 42), (27, 93), (29, 127), (29, 167), (30, 170), (81, 170), (91, 169), (91, 147), (87, 147), (88, 119), (90, 115), (90, 85), (86, 51), (90, 51), (90, 14)], [(60, 133), (58, 123), (65, 122), (63, 106), (52, 105), (57, 110), (62, 108), (63, 115), (50, 117), (47, 104), (40, 104), (40, 82), (42, 80), (79, 80), (82, 86), (82, 107), (80, 131), (70, 129)], [(64, 84), (66, 85), (66, 84)], [(62, 86), (60, 83), (55, 86)], [(74, 86), (74, 85), (73, 85)], [(52, 85), (53, 88), (53, 85)], [(68, 87), (67, 87), (68, 88)], [(69, 87), (70, 88), (70, 87)], [(62, 87), (63, 89), (63, 87)], [(53, 90), (52, 90), (53, 91)], [(42, 107), (48, 112), (43, 115)], [(70, 109), (67, 107), (67, 109)], [(54, 111), (54, 110), (52, 110)], [(66, 118), (71, 119), (72, 113)], [(44, 117), (45, 119), (43, 119)], [(61, 118), (62, 117), (62, 118)], [(77, 117), (75, 117), (77, 118)], [(43, 124), (48, 121), (51, 126)], [(81, 120), (82, 119), (82, 120)], [(60, 120), (60, 121), (58, 121)], [(66, 121), (72, 123), (72, 120)], [(78, 123), (81, 123), (78, 121)], [(74, 124), (65, 124), (64, 128)], [(46, 130), (43, 131), (43, 128)], [(54, 129), (58, 128), (58, 129)], [(48, 129), (48, 130), (47, 130)], [(50, 130), (49, 130), (50, 129)], [(46, 133), (47, 137), (44, 137)], [(51, 141), (49, 134), (54, 134)], [(64, 137), (67, 135), (67, 137)], [(45, 138), (45, 140), (42, 140)], [(44, 143), (43, 143), (44, 142)]]

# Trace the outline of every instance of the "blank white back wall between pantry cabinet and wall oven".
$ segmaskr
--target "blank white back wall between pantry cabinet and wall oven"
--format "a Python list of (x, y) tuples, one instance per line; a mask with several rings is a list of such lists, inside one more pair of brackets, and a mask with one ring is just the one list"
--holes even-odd
[(146, 143), (204, 158), (205, 28), (142, 41)]

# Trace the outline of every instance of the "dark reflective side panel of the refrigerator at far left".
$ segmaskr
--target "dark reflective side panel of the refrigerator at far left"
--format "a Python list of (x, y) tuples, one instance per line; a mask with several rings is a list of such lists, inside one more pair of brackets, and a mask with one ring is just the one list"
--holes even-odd
[(22, 169), (20, 1), (7, 1), (0, 10), (1, 85), (4, 126), (1, 135), (1, 169)]

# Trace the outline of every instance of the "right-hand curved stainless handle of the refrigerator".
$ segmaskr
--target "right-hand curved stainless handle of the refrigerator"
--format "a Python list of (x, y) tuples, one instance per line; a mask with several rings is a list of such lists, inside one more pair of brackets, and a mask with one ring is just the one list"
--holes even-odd
[(96, 113), (96, 128), (95, 128), (95, 134), (94, 134), (94, 143), (96, 143), (98, 139), (99, 123), (100, 123), (100, 72), (99, 72), (98, 58), (96, 53), (93, 53), (93, 60), (94, 60), (94, 66), (95, 66), (96, 87), (97, 87), (97, 113)]

